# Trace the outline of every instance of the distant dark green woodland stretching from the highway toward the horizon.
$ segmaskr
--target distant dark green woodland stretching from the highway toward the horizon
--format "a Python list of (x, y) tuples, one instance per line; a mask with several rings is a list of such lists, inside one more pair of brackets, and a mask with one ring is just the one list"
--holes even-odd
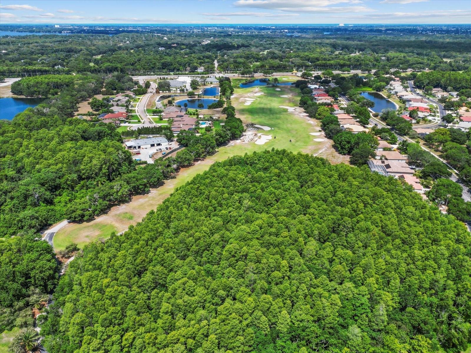
[[(167, 39), (149, 32), (111, 37), (72, 34), (1, 38), (0, 50), (6, 52), (0, 56), (0, 75), (195, 72), (201, 66), (204, 73), (213, 73), (215, 59), (222, 72), (343, 68), (460, 71), (471, 64), (470, 40), (461, 33), (448, 33), (440, 40), (433, 34), (402, 34), (357, 29), (323, 35), (306, 28), (301, 36), (292, 37), (276, 31), (234, 33), (221, 29), (194, 33), (171, 29)], [(209, 43), (201, 44), (209, 38)]]

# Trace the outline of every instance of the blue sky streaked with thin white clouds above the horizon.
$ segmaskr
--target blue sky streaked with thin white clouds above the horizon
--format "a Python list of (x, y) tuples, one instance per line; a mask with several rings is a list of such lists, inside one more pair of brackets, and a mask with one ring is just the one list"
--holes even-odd
[(470, 0), (2, 0), (16, 24), (469, 24)]

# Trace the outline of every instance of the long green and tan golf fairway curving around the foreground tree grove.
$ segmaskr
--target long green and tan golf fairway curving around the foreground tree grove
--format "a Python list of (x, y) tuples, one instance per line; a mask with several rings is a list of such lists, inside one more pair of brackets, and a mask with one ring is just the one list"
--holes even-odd
[[(244, 124), (251, 122), (258, 125), (269, 126), (273, 128), (269, 131), (259, 130), (259, 133), (276, 136), (265, 144), (255, 144), (253, 141), (242, 143), (233, 141), (226, 146), (219, 147), (218, 152), (196, 162), (193, 166), (182, 168), (178, 175), (166, 180), (164, 185), (152, 189), (146, 195), (138, 195), (126, 204), (115, 206), (104, 215), (101, 215), (90, 222), (81, 224), (69, 223), (60, 229), (54, 236), (54, 249), (65, 249), (70, 243), (77, 243), (81, 248), (89, 241), (98, 238), (106, 239), (111, 233), (120, 233), (128, 229), (130, 225), (138, 223), (146, 214), (157, 207), (165, 198), (167, 198), (176, 187), (181, 186), (191, 180), (196, 174), (203, 173), (211, 164), (225, 160), (235, 155), (244, 155), (254, 151), (263, 151), (272, 147), (278, 149), (287, 149), (292, 152), (314, 153), (321, 150), (326, 142), (313, 141), (310, 132), (320, 130), (318, 122), (316, 125), (295, 112), (288, 112), (286, 108), (280, 108), (280, 105), (288, 107), (297, 107), (300, 99), (299, 89), (294, 86), (275, 87), (252, 87), (237, 88), (235, 96), (232, 98), (232, 104), (235, 106), (237, 116), (244, 121)], [(263, 95), (254, 96), (257, 92), (263, 92)], [(280, 97), (289, 95), (289, 97)], [(245, 105), (245, 100), (241, 98), (255, 99), (250, 105)], [(297, 108), (297, 112), (302, 112)], [(290, 142), (290, 139), (292, 142)]]

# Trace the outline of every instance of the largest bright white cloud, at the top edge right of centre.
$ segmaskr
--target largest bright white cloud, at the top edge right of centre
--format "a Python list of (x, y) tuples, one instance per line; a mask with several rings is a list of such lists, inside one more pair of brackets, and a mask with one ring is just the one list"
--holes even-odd
[(237, 0), (234, 5), (246, 8), (263, 8), (285, 12), (366, 12), (373, 11), (364, 5), (332, 7), (338, 4), (361, 4), (360, 0)]

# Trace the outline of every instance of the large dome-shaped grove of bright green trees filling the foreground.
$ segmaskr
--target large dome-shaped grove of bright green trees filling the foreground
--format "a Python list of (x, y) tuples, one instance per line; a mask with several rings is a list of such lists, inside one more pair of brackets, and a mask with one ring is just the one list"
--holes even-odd
[[(50, 353), (458, 352), (471, 235), (392, 177), (286, 151), (211, 166), (61, 279)], [(60, 308), (60, 310), (59, 310)]]

